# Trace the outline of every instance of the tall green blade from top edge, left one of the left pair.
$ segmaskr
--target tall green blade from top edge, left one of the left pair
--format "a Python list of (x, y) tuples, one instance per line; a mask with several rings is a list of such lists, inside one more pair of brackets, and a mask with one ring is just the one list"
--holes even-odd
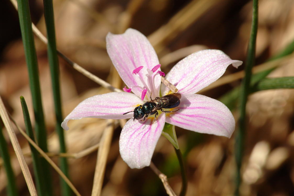
[[(39, 84), (38, 62), (36, 56), (36, 49), (34, 45), (34, 36), (31, 28), (29, 2), (28, 0), (17, 0), (17, 6), (19, 14), (19, 23), (21, 27), (21, 36), (24, 44), (26, 64), (29, 72), (29, 84), (31, 88), (34, 107), (37, 142), (44, 152), (48, 152), (46, 128)], [(46, 162), (44, 158), (41, 158), (41, 166), (44, 181), (46, 182), (46, 195), (52, 195), (52, 182), (49, 164)]]

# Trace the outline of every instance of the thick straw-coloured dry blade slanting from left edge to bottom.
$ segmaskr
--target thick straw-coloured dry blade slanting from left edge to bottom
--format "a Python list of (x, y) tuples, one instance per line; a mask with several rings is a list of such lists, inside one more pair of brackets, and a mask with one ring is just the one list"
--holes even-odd
[(8, 132), (11, 144), (13, 146), (14, 152), (16, 154), (18, 161), (19, 161), (22, 173), (24, 174), (24, 179), (26, 180), (26, 184), (28, 185), (29, 192), (31, 195), (37, 195), (36, 187), (34, 185), (31, 173), (29, 171), (29, 167), (26, 164), (26, 161), (24, 159), (24, 155), (21, 152), (21, 147), (20, 147), (19, 142), (16, 138), (16, 134), (13, 130), (11, 121), (9, 120), (8, 114), (6, 112), (6, 109), (4, 107), (4, 104), (2, 102), (1, 97), (0, 97), (0, 116), (3, 120), (3, 123), (6, 127), (6, 129), (7, 129), (7, 132)]

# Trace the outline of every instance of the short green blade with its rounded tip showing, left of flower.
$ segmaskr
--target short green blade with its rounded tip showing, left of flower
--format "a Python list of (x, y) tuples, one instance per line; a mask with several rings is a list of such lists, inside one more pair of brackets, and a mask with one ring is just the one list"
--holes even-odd
[[(24, 115), (24, 123), (26, 126), (26, 133), (35, 142), (34, 132), (33, 132), (32, 124), (31, 124), (31, 118), (29, 115), (28, 107), (26, 105), (26, 101), (23, 96), (20, 97), (20, 102), (21, 102), (22, 112)], [(31, 144), (29, 144), (29, 145), (30, 145), (31, 154), (32, 154), (37, 192), (39, 195), (46, 195), (46, 193), (45, 193), (46, 188), (45, 188), (44, 178), (42, 177), (43, 173), (42, 173), (41, 160), (39, 157), (39, 153)]]

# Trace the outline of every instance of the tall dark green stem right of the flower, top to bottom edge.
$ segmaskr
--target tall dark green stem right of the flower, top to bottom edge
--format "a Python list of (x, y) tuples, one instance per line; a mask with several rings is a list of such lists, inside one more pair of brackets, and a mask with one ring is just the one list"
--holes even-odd
[(239, 128), (236, 133), (235, 139), (235, 159), (237, 165), (236, 172), (236, 189), (235, 195), (239, 195), (239, 187), (241, 184), (241, 164), (243, 157), (243, 147), (244, 138), (246, 132), (246, 102), (249, 94), (250, 80), (251, 80), (251, 69), (255, 63), (255, 45), (256, 45), (256, 35), (258, 29), (258, 0), (253, 0), (253, 14), (252, 14), (252, 24), (250, 39), (248, 43), (247, 58), (245, 63), (245, 77), (242, 81), (241, 91), (240, 91), (240, 118), (239, 118)]

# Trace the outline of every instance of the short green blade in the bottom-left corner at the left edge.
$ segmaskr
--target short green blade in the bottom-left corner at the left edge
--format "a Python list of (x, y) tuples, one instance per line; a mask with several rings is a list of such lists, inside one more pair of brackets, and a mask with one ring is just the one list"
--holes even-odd
[(11, 167), (10, 156), (7, 149), (7, 143), (2, 133), (1, 121), (0, 121), (0, 156), (2, 157), (3, 165), (7, 175), (7, 195), (16, 196), (17, 189), (16, 189), (16, 183), (15, 183), (15, 176)]

